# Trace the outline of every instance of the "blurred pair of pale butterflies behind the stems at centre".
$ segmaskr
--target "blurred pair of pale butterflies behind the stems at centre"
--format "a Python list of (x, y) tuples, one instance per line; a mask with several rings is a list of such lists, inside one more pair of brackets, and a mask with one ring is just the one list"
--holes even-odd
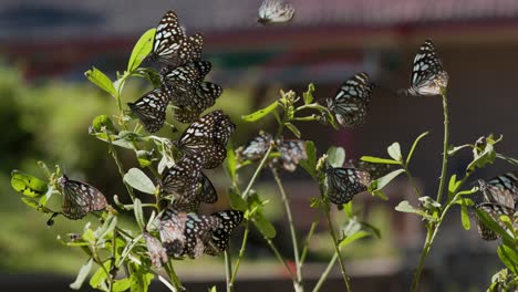
[(239, 161), (259, 161), (267, 154), (268, 149), (277, 149), (280, 156), (272, 157), (269, 165), (272, 169), (283, 169), (294, 171), (299, 161), (308, 158), (305, 153), (305, 140), (301, 139), (274, 139), (272, 135), (261, 132), (244, 147), (236, 149), (236, 157)]

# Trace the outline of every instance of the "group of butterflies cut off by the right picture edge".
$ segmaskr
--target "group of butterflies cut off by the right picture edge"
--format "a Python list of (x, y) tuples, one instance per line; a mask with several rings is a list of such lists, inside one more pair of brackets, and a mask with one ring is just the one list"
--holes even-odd
[[(477, 182), (483, 199), (475, 205), (475, 208), (488, 213), (503, 228), (505, 226), (499, 217), (506, 215), (511, 218), (515, 228), (518, 228), (518, 217), (515, 217), (515, 212), (518, 211), (518, 171), (507, 173), (487, 181), (479, 179)], [(481, 239), (496, 240), (499, 237), (498, 233), (486, 227), (478, 216), (476, 216), (476, 219)]]

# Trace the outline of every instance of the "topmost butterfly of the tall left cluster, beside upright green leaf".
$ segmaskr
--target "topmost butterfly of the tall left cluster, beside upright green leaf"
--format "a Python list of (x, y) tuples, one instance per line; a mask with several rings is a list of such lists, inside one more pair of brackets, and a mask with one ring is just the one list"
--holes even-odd
[(201, 58), (201, 34), (187, 36), (178, 24), (175, 11), (168, 11), (156, 27), (153, 59), (169, 66), (179, 66)]

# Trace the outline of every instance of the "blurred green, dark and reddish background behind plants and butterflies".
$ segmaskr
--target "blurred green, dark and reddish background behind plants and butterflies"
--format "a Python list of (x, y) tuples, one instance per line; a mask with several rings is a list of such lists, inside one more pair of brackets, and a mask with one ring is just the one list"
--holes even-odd
[[(124, 191), (105, 144), (87, 135), (92, 118), (113, 114), (115, 103), (90, 84), (84, 72), (94, 65), (114, 79), (126, 67), (138, 36), (170, 9), (188, 34), (204, 33), (204, 55), (214, 65), (209, 79), (225, 88), (217, 107), (225, 108), (238, 124), (236, 145), (246, 143), (259, 128), (274, 127), (271, 119), (245, 124), (239, 117), (269, 104), (280, 88), (301, 92), (313, 82), (315, 96), (325, 98), (352, 74), (364, 71), (377, 84), (367, 123), (338, 132), (301, 124), (304, 138), (315, 140), (319, 153), (334, 145), (344, 147), (348, 158), (359, 158), (385, 156), (386, 146), (396, 140), (407, 152), (418, 134), (429, 131), (411, 167), (425, 195), (435, 196), (443, 137), (441, 100), (394, 93), (408, 85), (417, 48), (433, 39), (450, 76), (452, 144), (503, 134), (498, 152), (518, 156), (518, 1), (290, 2), (297, 9), (291, 23), (261, 27), (256, 22), (258, 0), (0, 1), (0, 288), (66, 291), (86, 260), (55, 240), (84, 222), (59, 219), (46, 228), (48, 218), (27, 208), (11, 190), (10, 171), (17, 168), (42, 176), (35, 163), (44, 160), (60, 164), (108, 196)], [(131, 82), (125, 102), (135, 101), (148, 87)], [(167, 128), (160, 134), (172, 136)], [(469, 155), (454, 157), (450, 174), (460, 173)], [(132, 153), (123, 156), (126, 167), (135, 166)], [(510, 169), (497, 161), (474, 178)], [(228, 180), (224, 171), (209, 175), (225, 197)], [(317, 189), (303, 171), (283, 179), (302, 241), (314, 212), (308, 207), (309, 197)], [(267, 209), (278, 228), (276, 243), (291, 254), (271, 177), (261, 176), (258, 189), (272, 200)], [(422, 222), (394, 210), (398, 201), (413, 199), (406, 180), (395, 181), (386, 194), (388, 201), (369, 195), (355, 199), (364, 219), (382, 231), (381, 239), (363, 240), (343, 252), (356, 291), (405, 291), (417, 263), (424, 240)], [(323, 225), (319, 231), (304, 265), (308, 279), (318, 279), (332, 254)], [(423, 291), (484, 291), (490, 275), (500, 269), (495, 250), (496, 243), (479, 240), (476, 230), (465, 231), (458, 211), (453, 210), (428, 258)], [(238, 280), (244, 290), (290, 288), (256, 232), (247, 259)], [(185, 261), (178, 263), (178, 270), (185, 282), (196, 285), (194, 291), (224, 280), (221, 259)], [(339, 291), (340, 284), (336, 269), (327, 291)]]

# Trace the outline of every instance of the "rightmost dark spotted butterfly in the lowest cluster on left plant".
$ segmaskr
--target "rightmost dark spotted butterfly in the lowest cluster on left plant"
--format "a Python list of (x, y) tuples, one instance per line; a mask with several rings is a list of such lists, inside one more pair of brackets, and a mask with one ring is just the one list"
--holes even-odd
[(219, 225), (213, 231), (204, 252), (217, 255), (228, 249), (230, 234), (241, 223), (244, 213), (238, 210), (227, 210), (213, 213), (211, 217), (218, 218)]

